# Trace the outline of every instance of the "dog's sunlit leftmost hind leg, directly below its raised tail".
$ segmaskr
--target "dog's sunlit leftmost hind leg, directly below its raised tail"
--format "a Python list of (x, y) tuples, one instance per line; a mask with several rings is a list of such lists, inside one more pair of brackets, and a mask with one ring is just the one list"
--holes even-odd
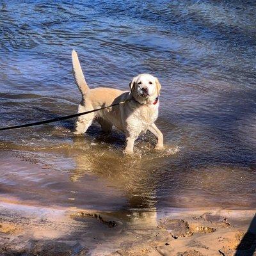
[[(90, 111), (90, 110), (92, 110), (92, 108), (90, 108), (89, 106), (83, 106), (79, 104), (77, 113)], [(86, 115), (79, 116), (76, 121), (76, 131), (74, 132), (74, 134), (83, 134), (84, 132), (86, 132), (87, 129), (90, 127), (90, 125), (92, 125), (92, 121), (94, 118), (95, 118), (94, 113), (89, 113)]]

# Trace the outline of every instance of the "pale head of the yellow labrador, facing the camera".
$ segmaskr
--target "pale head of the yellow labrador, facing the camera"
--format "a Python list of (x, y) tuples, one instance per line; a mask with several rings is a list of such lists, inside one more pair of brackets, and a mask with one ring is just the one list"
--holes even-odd
[(140, 74), (133, 77), (129, 84), (131, 95), (141, 104), (153, 103), (160, 95), (161, 84), (150, 74)]

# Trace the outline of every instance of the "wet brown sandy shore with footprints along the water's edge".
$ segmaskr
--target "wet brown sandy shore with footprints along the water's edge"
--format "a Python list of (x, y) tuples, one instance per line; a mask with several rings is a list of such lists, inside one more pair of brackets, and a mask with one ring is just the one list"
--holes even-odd
[(255, 249), (252, 210), (116, 214), (13, 203), (0, 204), (0, 255), (253, 255)]

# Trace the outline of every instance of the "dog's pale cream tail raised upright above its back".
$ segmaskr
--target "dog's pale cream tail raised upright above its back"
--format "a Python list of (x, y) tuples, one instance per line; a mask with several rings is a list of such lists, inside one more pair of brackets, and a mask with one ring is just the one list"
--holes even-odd
[(73, 65), (73, 75), (76, 81), (76, 85), (78, 86), (82, 95), (84, 95), (90, 88), (84, 79), (83, 70), (81, 68), (81, 65), (75, 50), (72, 51), (72, 65)]

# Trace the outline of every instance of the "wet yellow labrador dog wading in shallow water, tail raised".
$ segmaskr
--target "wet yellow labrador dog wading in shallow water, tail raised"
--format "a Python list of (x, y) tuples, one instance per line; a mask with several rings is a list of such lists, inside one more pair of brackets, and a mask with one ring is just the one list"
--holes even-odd
[(158, 96), (161, 89), (161, 84), (156, 77), (149, 74), (134, 77), (130, 83), (130, 92), (113, 88), (90, 89), (74, 50), (72, 64), (76, 84), (82, 93), (78, 113), (125, 101), (118, 106), (79, 116), (76, 122), (76, 134), (86, 132), (92, 121), (96, 119), (104, 132), (111, 131), (113, 125), (124, 132), (127, 141), (124, 150), (126, 154), (133, 153), (134, 141), (147, 130), (157, 137), (156, 149), (163, 148), (163, 134), (154, 124), (158, 116)]

